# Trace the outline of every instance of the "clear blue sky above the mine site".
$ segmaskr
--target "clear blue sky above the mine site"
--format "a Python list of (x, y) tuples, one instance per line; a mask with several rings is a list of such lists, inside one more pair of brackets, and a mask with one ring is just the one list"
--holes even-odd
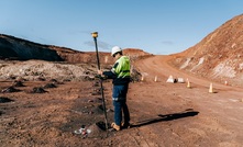
[(242, 0), (0, 0), (0, 33), (95, 52), (114, 45), (168, 55), (243, 13)]

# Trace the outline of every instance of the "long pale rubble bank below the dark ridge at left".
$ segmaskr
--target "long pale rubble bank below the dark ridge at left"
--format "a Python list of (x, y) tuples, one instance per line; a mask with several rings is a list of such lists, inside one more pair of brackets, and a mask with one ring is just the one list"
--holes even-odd
[[(96, 68), (85, 64), (51, 63), (44, 60), (5, 61), (0, 64), (0, 79), (18, 79), (45, 81), (56, 79), (58, 81), (82, 80), (92, 77)], [(90, 74), (86, 75), (85, 70)]]

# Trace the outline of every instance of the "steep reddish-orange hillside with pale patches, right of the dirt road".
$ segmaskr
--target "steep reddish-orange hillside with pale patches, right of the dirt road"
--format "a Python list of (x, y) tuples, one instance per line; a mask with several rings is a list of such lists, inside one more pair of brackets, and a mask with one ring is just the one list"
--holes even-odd
[(243, 86), (243, 14), (225, 22), (201, 42), (174, 55), (172, 64), (219, 82)]

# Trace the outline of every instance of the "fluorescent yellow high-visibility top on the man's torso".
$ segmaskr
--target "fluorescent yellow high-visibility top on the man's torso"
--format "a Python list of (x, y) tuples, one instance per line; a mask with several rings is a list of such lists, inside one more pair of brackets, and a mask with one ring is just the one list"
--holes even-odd
[(130, 77), (130, 59), (128, 56), (121, 56), (112, 68), (112, 72), (117, 75), (117, 78)]

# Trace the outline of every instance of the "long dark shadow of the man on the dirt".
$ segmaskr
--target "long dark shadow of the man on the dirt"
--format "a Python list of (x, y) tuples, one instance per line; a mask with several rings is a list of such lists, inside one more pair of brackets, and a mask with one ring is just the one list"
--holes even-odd
[(189, 117), (189, 116), (196, 116), (198, 115), (198, 113), (199, 113), (198, 111), (194, 111), (192, 109), (187, 109), (180, 113), (165, 114), (165, 115), (158, 114), (157, 116), (159, 117), (140, 121), (131, 125), (131, 127), (140, 127), (140, 126), (150, 125), (150, 124), (154, 124), (158, 122), (166, 122), (166, 121), (173, 121), (173, 120), (178, 120), (178, 118), (184, 118), (184, 117)]

